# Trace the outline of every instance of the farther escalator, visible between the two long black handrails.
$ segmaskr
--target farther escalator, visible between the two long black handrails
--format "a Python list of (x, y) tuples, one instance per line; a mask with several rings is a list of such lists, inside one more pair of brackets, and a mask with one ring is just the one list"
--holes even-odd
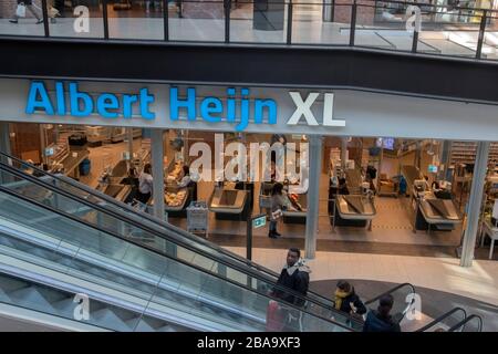
[[(136, 242), (166, 251), (172, 257), (189, 261), (196, 254), (196, 259), (219, 261), (225, 264), (225, 268), (231, 269), (228, 274), (226, 273), (228, 277), (240, 277), (246, 272), (249, 272), (251, 277), (258, 275), (261, 280), (255, 283), (255, 287), (258, 287), (260, 291), (268, 291), (274, 287), (278, 274), (261, 266), (149, 215), (139, 214), (129, 206), (64, 176), (52, 176), (41, 170), (37, 170), (39, 177), (25, 175), (23, 169), (32, 170), (32, 166), (7, 155), (3, 157), (8, 163), (0, 164), (3, 187), (30, 200), (38, 200), (96, 227), (125, 235)], [(221, 272), (224, 267), (220, 267)], [(347, 315), (338, 313), (330, 299), (309, 292), (305, 300), (313, 313), (325, 317), (333, 315), (341, 323), (352, 323), (355, 329), (362, 327), (361, 321), (350, 321)]]

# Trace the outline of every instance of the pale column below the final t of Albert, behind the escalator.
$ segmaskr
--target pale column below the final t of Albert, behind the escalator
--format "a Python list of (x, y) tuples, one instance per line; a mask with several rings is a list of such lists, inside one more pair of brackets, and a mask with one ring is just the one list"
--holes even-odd
[(151, 131), (154, 216), (164, 220), (163, 131)]

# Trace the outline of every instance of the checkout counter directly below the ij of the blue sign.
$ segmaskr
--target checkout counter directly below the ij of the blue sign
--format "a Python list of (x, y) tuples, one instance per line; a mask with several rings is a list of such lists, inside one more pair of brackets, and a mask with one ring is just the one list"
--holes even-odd
[(209, 210), (217, 220), (247, 220), (252, 210), (255, 185), (226, 183), (216, 186), (209, 198)]

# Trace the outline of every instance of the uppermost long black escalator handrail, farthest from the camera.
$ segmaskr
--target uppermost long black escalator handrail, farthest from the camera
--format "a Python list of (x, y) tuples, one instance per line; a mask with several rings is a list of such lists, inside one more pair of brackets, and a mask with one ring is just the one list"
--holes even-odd
[[(29, 164), (29, 163), (27, 163), (27, 162), (23, 162), (22, 159), (19, 159), (19, 158), (17, 158), (17, 157), (10, 156), (10, 155), (8, 155), (8, 154), (6, 154), (6, 153), (2, 153), (2, 152), (0, 152), (0, 155), (1, 155), (1, 156), (4, 156), (6, 158), (13, 159), (13, 160), (18, 162), (19, 164), (29, 166), (30, 168), (33, 168), (34, 170), (37, 170), (37, 173), (46, 175), (46, 176), (49, 176), (49, 177), (51, 177), (51, 178), (53, 178), (53, 179), (61, 180), (61, 181), (63, 181), (63, 183), (65, 183), (65, 184), (69, 184), (69, 185), (71, 185), (72, 187), (74, 187), (74, 188), (76, 188), (76, 189), (81, 189), (81, 190), (87, 192), (89, 195), (92, 195), (92, 196), (97, 197), (97, 198), (100, 198), (100, 199), (103, 199), (103, 200), (105, 200), (106, 202), (108, 202), (108, 204), (111, 204), (111, 205), (115, 205), (115, 206), (118, 207), (118, 208), (126, 209), (126, 210), (129, 211), (132, 215), (134, 215), (134, 214), (137, 212), (134, 208), (132, 208), (132, 207), (128, 206), (127, 204), (122, 202), (122, 201), (118, 201), (118, 200), (116, 200), (115, 198), (112, 198), (112, 197), (107, 196), (106, 194), (104, 194), (104, 192), (102, 192), (102, 191), (100, 191), (100, 190), (90, 188), (90, 187), (86, 186), (86, 185), (76, 183), (76, 181), (74, 181), (73, 179), (68, 178), (68, 177), (65, 177), (65, 176), (63, 176), (63, 175), (53, 175), (53, 174), (50, 174), (50, 173), (48, 173), (48, 171), (45, 171), (45, 170), (42, 170), (42, 169), (38, 168), (37, 166), (33, 166), (33, 165), (31, 165), (31, 164)], [(11, 166), (11, 167), (15, 168), (14, 166)], [(120, 210), (120, 211), (121, 211), (121, 210)], [(128, 215), (124, 215), (124, 217), (128, 218), (129, 216), (128, 216)], [(142, 212), (142, 214), (141, 214), (141, 217), (144, 218), (144, 219), (147, 219), (148, 221), (152, 221), (152, 222), (154, 222), (154, 223), (158, 223), (158, 225), (160, 225), (162, 227), (164, 227), (164, 228), (166, 228), (166, 229), (169, 229), (169, 230), (172, 230), (172, 231), (174, 231), (174, 232), (180, 233), (181, 236), (187, 237), (187, 238), (190, 239), (190, 240), (195, 240), (195, 242), (197, 242), (197, 243), (203, 243), (203, 246), (205, 246), (205, 247), (207, 247), (207, 248), (211, 248), (211, 249), (214, 249), (214, 250), (217, 251), (217, 252), (224, 253), (225, 256), (228, 256), (229, 258), (236, 259), (237, 261), (239, 261), (239, 262), (241, 262), (241, 263), (246, 263), (247, 266), (250, 266), (250, 267), (252, 267), (252, 268), (255, 268), (255, 269), (257, 269), (257, 270), (259, 270), (259, 271), (261, 271), (261, 272), (268, 273), (268, 274), (270, 274), (271, 277), (274, 277), (274, 278), (278, 278), (278, 277), (279, 277), (279, 274), (278, 274), (277, 272), (274, 272), (274, 271), (272, 271), (272, 270), (270, 270), (270, 269), (268, 269), (268, 268), (266, 268), (266, 267), (262, 267), (262, 266), (260, 266), (260, 264), (258, 264), (258, 263), (255, 263), (253, 261), (248, 260), (248, 259), (246, 259), (246, 258), (243, 258), (243, 257), (241, 257), (241, 256), (239, 256), (239, 254), (237, 254), (237, 253), (230, 252), (230, 251), (224, 249), (222, 247), (219, 247), (219, 246), (217, 246), (217, 244), (214, 244), (212, 242), (208, 242), (207, 240), (204, 240), (204, 239), (201, 239), (201, 238), (194, 238), (194, 236), (193, 236), (190, 232), (187, 232), (187, 231), (185, 231), (185, 230), (183, 230), (183, 229), (180, 229), (180, 228), (178, 228), (178, 227), (175, 227), (175, 226), (173, 226), (173, 225), (170, 225), (170, 223), (168, 223), (168, 222), (165, 222), (164, 220), (160, 220), (160, 219), (158, 219), (158, 218), (155, 218), (155, 217), (153, 217), (153, 216), (151, 216), (151, 215), (148, 215), (148, 214), (146, 214), (146, 212)], [(313, 293), (313, 292), (311, 292), (311, 293)], [(320, 294), (313, 293), (313, 295), (315, 295), (317, 298), (321, 298), (321, 299), (323, 299), (323, 300), (330, 301), (330, 299), (326, 299), (325, 296), (322, 296), (322, 295), (320, 295)]]

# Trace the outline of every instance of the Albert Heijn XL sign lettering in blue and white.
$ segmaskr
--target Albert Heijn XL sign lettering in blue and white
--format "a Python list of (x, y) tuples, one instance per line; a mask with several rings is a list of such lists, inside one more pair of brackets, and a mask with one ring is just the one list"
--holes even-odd
[[(236, 132), (242, 132), (250, 123), (276, 125), (279, 118), (287, 125), (333, 126), (343, 127), (345, 121), (333, 117), (333, 93), (323, 94), (321, 123), (313, 113), (313, 106), (320, 93), (311, 92), (303, 96), (299, 92), (288, 92), (294, 111), (290, 117), (279, 116), (279, 105), (272, 98), (255, 98), (247, 87), (237, 90), (228, 87), (222, 97), (199, 97), (195, 87), (179, 90), (169, 87), (170, 122), (187, 121), (194, 123), (199, 118), (209, 124), (227, 122), (234, 125)], [(50, 116), (89, 117), (101, 116), (103, 119), (142, 118), (155, 121), (154, 104), (156, 95), (147, 87), (131, 94), (89, 93), (80, 90), (76, 82), (64, 84), (55, 82), (54, 90), (49, 91), (44, 82), (31, 82), (25, 113), (28, 115), (45, 114)], [(317, 112), (317, 111), (315, 111)]]

